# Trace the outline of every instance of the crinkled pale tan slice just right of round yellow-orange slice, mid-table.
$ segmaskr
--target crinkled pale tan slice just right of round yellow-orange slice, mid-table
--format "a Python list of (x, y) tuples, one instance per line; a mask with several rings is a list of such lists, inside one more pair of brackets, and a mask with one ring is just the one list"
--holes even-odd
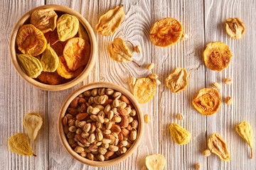
[(166, 78), (166, 86), (171, 89), (173, 93), (178, 93), (186, 89), (188, 85), (188, 73), (186, 69), (177, 67), (173, 73)]

